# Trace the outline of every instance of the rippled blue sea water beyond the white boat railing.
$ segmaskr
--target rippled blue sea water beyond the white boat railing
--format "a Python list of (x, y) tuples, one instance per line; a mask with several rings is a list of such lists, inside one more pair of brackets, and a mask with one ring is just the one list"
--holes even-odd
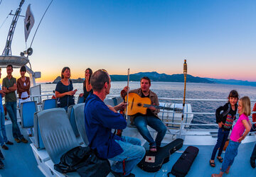
[[(41, 90), (53, 93), (55, 86), (56, 84), (41, 84)], [(124, 86), (127, 86), (126, 81), (111, 82), (110, 94), (119, 96)], [(139, 81), (129, 82), (130, 89), (138, 89), (139, 86)], [(73, 84), (73, 88), (78, 89), (77, 93), (83, 92), (82, 83)], [(183, 98), (184, 84), (180, 82), (151, 82), (150, 89), (159, 98)], [(256, 100), (256, 87), (254, 86), (201, 83), (187, 83), (186, 98), (226, 99), (228, 101), (227, 97), (231, 90), (238, 91), (240, 98), (242, 96), (249, 96), (250, 99)], [(75, 100), (77, 100), (78, 95), (75, 95)], [(192, 111), (195, 113), (215, 113), (215, 110), (227, 101), (186, 101), (186, 103), (191, 104)], [(182, 101), (171, 101), (171, 103), (182, 103)], [(254, 104), (255, 101), (252, 101), (252, 108)], [(194, 115), (192, 123), (215, 123), (215, 115)], [(201, 128), (206, 127), (201, 126)]]

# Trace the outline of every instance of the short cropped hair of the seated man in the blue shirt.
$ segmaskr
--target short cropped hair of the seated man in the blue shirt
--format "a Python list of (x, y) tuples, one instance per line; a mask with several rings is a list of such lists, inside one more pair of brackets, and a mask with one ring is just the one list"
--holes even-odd
[(90, 78), (90, 84), (92, 85), (93, 91), (101, 91), (106, 82), (107, 84), (110, 84), (110, 75), (107, 74), (105, 69), (97, 70)]

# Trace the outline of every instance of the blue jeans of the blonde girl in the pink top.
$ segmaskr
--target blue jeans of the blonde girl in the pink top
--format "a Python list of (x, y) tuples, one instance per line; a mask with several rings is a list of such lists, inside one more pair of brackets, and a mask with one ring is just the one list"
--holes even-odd
[(225, 172), (228, 169), (228, 166), (231, 166), (235, 160), (235, 156), (238, 155), (238, 147), (240, 142), (233, 142), (230, 139), (227, 150), (225, 152), (224, 161), (221, 166), (221, 171)]

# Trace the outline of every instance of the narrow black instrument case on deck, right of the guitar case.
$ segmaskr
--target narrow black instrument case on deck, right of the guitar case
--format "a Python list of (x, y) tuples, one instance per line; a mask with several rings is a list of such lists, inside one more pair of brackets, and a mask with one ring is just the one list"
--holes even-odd
[(181, 154), (180, 158), (174, 164), (171, 169), (171, 173), (178, 177), (186, 176), (193, 164), (193, 161), (196, 159), (198, 152), (199, 149), (197, 147), (187, 147), (185, 152)]

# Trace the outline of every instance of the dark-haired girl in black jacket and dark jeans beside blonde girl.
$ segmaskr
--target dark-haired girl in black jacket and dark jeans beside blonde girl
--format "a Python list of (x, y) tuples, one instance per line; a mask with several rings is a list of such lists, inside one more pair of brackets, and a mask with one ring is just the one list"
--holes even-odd
[[(223, 147), (225, 145), (225, 142), (228, 139), (228, 135), (230, 133), (231, 127), (233, 125), (233, 121), (235, 120), (235, 114), (238, 110), (238, 91), (230, 91), (228, 95), (228, 103), (225, 103), (225, 105), (220, 106), (216, 110), (216, 122), (218, 123), (219, 129), (218, 129), (218, 139), (217, 143), (213, 149), (213, 154), (210, 158), (210, 166), (215, 167), (215, 155), (218, 151), (217, 159), (220, 161), (220, 163), (223, 162), (223, 158), (221, 157), (221, 153), (223, 152)], [(223, 113), (220, 114), (220, 111), (223, 110)]]

